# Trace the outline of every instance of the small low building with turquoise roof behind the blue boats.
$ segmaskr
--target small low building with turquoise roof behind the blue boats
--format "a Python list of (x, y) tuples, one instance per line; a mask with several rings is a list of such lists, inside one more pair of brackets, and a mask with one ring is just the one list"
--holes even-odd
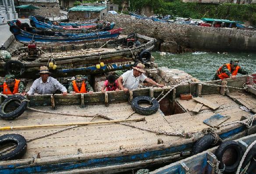
[(98, 6), (76, 6), (69, 9), (68, 21), (87, 21), (100, 19), (107, 14), (107, 7)]

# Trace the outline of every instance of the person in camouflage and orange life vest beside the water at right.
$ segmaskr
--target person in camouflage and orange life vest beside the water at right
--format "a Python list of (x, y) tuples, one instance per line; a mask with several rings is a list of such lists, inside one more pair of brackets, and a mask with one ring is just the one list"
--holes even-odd
[(238, 59), (230, 60), (230, 63), (226, 63), (223, 66), (220, 66), (220, 68), (217, 70), (215, 76), (213, 77), (213, 80), (223, 80), (227, 78), (235, 79), (235, 76), (240, 74), (248, 74), (246, 70), (244, 70), (241, 66), (238, 65), (239, 61)]

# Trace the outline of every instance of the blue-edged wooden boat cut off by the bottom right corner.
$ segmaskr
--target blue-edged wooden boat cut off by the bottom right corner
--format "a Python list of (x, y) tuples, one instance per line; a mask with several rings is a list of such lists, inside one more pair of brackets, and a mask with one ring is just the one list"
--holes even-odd
[[(235, 142), (231, 142), (229, 144), (238, 144), (241, 146), (241, 150), (244, 153), (245, 150), (252, 144), (252, 142), (256, 141), (256, 134), (252, 134), (249, 136), (242, 137), (240, 139), (236, 139)], [(227, 142), (228, 143), (228, 142)], [(196, 154), (192, 157), (185, 158), (184, 160), (177, 161), (175, 163), (166, 165), (161, 167), (155, 171), (150, 172), (150, 174), (217, 174), (217, 166), (219, 164), (219, 160), (216, 157), (218, 147), (213, 147), (209, 150), (206, 150), (202, 153)], [(253, 150), (253, 149), (252, 149)], [(248, 151), (248, 157), (251, 156), (250, 153), (254, 153), (252, 151)], [(226, 162), (230, 162), (230, 164), (234, 164), (234, 159), (232, 157), (232, 152), (226, 154)], [(241, 156), (240, 156), (241, 157)], [(235, 160), (237, 157), (235, 157)], [(248, 162), (248, 161), (247, 161)], [(256, 162), (252, 161), (250, 165), (256, 165)], [(254, 164), (253, 164), (254, 163)], [(239, 164), (239, 163), (238, 163)], [(236, 165), (238, 166), (238, 165)], [(253, 167), (253, 166), (252, 166)], [(253, 167), (256, 169), (256, 167)], [(221, 168), (220, 168), (221, 170)], [(249, 169), (250, 170), (250, 169)], [(254, 173), (252, 173), (254, 172)], [(250, 174), (255, 174), (255, 170), (250, 172)], [(247, 173), (248, 174), (248, 173)]]

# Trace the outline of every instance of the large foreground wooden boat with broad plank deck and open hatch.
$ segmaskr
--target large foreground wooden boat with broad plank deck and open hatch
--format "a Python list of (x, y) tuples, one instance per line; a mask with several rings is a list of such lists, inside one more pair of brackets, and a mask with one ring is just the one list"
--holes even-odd
[[(14, 120), (0, 120), (0, 125), (5, 126), (0, 127), (0, 135), (18, 134), (13, 138), (22, 136), (23, 142), (28, 141), (26, 150), (25, 145), (21, 148), (24, 156), (1, 161), (0, 172), (75, 174), (131, 171), (189, 157), (196, 142), (209, 135), (206, 129), (223, 141), (253, 134), (256, 132), (255, 77), (256, 74), (251, 74), (235, 80), (185, 81), (174, 86), (146, 87), (128, 93), (121, 90), (67, 96), (29, 95), (28, 101), (22, 100), (29, 105), (27, 111)], [(184, 95), (193, 98), (182, 100)], [(4, 101), (3, 96), (1, 101)], [(140, 102), (146, 102), (146, 105)], [(223, 117), (212, 122), (215, 126), (204, 124), (216, 114)], [(140, 122), (131, 120), (135, 118)], [(244, 124), (237, 122), (239, 120)], [(86, 123), (67, 127), (70, 122)], [(248, 128), (245, 123), (248, 123)], [(54, 127), (54, 124), (62, 126)]]

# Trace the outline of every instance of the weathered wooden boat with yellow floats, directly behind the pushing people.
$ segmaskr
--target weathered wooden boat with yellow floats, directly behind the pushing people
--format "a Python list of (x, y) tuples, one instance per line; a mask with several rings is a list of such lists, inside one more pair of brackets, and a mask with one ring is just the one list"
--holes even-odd
[[(140, 44), (136, 45), (138, 42)], [(150, 50), (154, 48), (155, 42), (154, 38), (133, 34), (107, 42), (56, 47), (38, 47), (32, 43), (18, 49), (13, 60), (0, 63), (0, 76), (14, 74), (16, 77), (33, 78), (40, 66), (49, 66), (51, 63), (57, 66), (55, 70), (50, 70), (54, 77), (129, 69), (135, 62), (150, 61)]]

